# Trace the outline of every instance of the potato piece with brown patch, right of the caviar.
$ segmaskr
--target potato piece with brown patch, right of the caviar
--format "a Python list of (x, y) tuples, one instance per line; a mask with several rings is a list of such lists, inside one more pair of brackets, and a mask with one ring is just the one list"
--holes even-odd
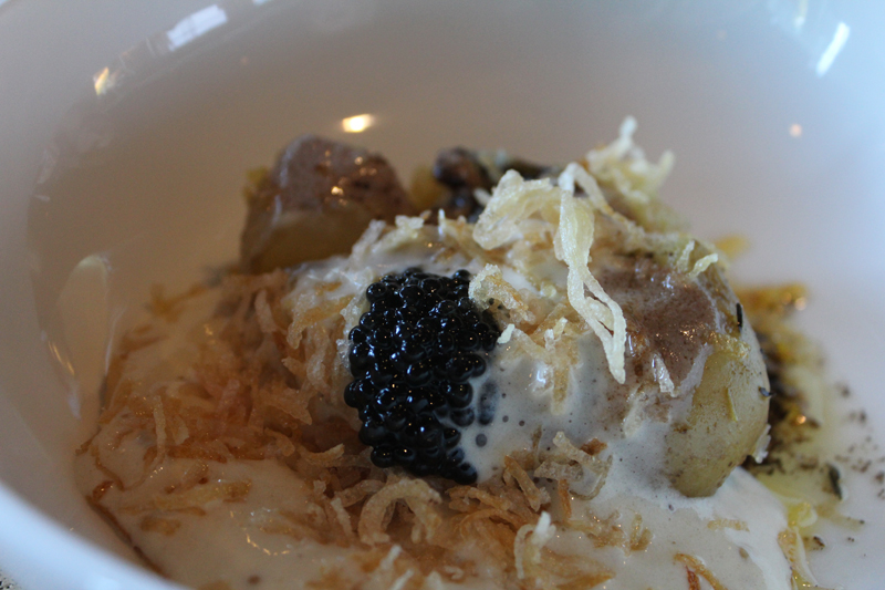
[[(760, 393), (769, 389), (768, 374), (737, 296), (716, 265), (687, 279), (638, 253), (610, 259), (597, 276), (624, 311), (634, 371), (647, 375), (660, 359), (677, 394), (691, 395), (666, 437), (665, 472), (686, 496), (711, 495), (753, 453), (768, 420)], [(678, 393), (698, 358), (699, 383)]]

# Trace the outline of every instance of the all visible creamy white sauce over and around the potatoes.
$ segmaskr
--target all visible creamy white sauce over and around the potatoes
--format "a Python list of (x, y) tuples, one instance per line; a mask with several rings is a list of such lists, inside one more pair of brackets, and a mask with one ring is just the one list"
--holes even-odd
[[(408, 266), (421, 266), (440, 275), (450, 275), (459, 268), (480, 270), (462, 257), (428, 259), (428, 252), (433, 252), (433, 244), (393, 256), (372, 255), (358, 261), (333, 258), (305, 266), (290, 300), (294, 301), (299, 292), (308, 292), (317, 282), (331, 281), (339, 281), (340, 287), (330, 297), (360, 294), (379, 276), (399, 272)], [(508, 269), (506, 276), (513, 278), (512, 275), (512, 269)], [(214, 338), (212, 321), (205, 320), (214, 304), (215, 296), (200, 298), (168, 331), (168, 338), (132, 354), (126, 366), (129, 376), (149, 387), (152, 382), (185, 375), (196, 359), (198, 343)], [(358, 319), (358, 314), (354, 318)], [(340, 350), (346, 351), (344, 334), (341, 344)], [(612, 466), (597, 497), (590, 501), (573, 498), (574, 517), (591, 518), (592, 513), (605, 518), (617, 513), (618, 526), (627, 530), (634, 516), (639, 515), (652, 534), (647, 548), (625, 552), (621, 548), (596, 548), (575, 531), (560, 531), (550, 541), (551, 549), (592, 556), (614, 570), (614, 579), (598, 587), (606, 590), (686, 588), (686, 568), (675, 560), (677, 552), (700, 559), (730, 589), (791, 588), (790, 568), (777, 541), (778, 534), (787, 527), (781, 504), (741, 469), (735, 470), (709, 498), (686, 498), (674, 490), (660, 469), (668, 424), (644, 420), (625, 431), (620, 421), (613, 420), (623, 408), (613, 408), (606, 401), (606, 394), (616, 384), (608, 373), (602, 346), (592, 334), (580, 342), (580, 361), (572, 371), (571, 391), (559, 413), (551, 411), (546, 389), (550, 369), (512, 354), (513, 346), (512, 341), (500, 345), (486, 374), (472, 382), (477, 393), (475, 407), (487, 383), (494, 384), (496, 398), (490, 424), (475, 422), (464, 428), (461, 445), (468, 460), (486, 478), (502, 468), (507, 454), (531, 448), (532, 434), (538, 428), (543, 433), (542, 447), (551, 445), (558, 432), (579, 445), (598, 438), (607, 445), (602, 456), (611, 456)], [(693, 370), (686, 381), (699, 380), (695, 373)], [(481, 444), (480, 435), (485, 436)], [(144, 454), (146, 444), (144, 437), (133, 437), (124, 442), (115, 458), (107, 458), (114, 462), (114, 470), (123, 474), (124, 482), (140, 476), (142, 462), (137, 458)], [(104, 475), (90, 455), (77, 460), (80, 487), (88, 495)], [(248, 495), (236, 503), (210, 503), (202, 507), (202, 515), (177, 515), (178, 528), (171, 534), (145, 530), (144, 515), (126, 507), (149, 501), (191, 466), (192, 459), (166, 458), (137, 488), (137, 494), (112, 488), (101, 500), (132, 537), (133, 545), (165, 573), (195, 587), (225, 581), (232, 589), (273, 589), (300, 588), (324, 572), (357, 568), (355, 560), (348, 558), (352, 552), (348, 549), (268, 531), (272, 530), (268, 522), (285, 519), (283, 513), (300, 515), (309, 509), (305, 484), (275, 459), (211, 464), (210, 482), (248, 480)], [(710, 522), (716, 520), (740, 521), (740, 528), (746, 530), (711, 528)], [(489, 587), (482, 579), (444, 586)]]

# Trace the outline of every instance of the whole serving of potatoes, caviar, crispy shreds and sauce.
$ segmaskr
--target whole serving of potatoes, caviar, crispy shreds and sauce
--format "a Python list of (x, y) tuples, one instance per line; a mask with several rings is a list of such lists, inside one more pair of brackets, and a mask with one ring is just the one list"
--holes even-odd
[[(410, 195), (294, 141), (247, 190), (239, 268), (123, 335), (81, 491), (195, 588), (814, 582), (783, 459), (822, 375), (634, 128), (566, 166), (447, 149)], [(738, 467), (772, 427), (804, 520)]]

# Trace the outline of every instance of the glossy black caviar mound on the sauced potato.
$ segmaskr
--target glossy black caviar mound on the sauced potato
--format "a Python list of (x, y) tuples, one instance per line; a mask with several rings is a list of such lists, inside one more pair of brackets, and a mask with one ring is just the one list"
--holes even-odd
[(360, 439), (378, 467), (472, 484), (461, 427), (477, 420), (470, 379), (486, 371), (501, 331), (468, 297), (470, 273), (406, 269), (366, 289), (369, 311), (351, 330), (354, 380), (344, 401), (360, 412)]

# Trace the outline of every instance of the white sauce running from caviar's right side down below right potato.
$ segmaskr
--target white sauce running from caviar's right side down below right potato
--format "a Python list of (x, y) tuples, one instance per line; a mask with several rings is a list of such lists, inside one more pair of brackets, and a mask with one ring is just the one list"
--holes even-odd
[[(660, 469), (669, 424), (646, 420), (625, 433), (620, 423), (612, 422), (604, 400), (617, 384), (596, 339), (581, 342), (581, 361), (573, 368), (565, 411), (559, 415), (551, 412), (549, 395), (538, 394), (543, 387), (533, 386), (543, 382), (545, 368), (524, 358), (492, 364), (490, 374), (475, 383), (481, 391), (482, 382), (497, 382), (496, 415), (487, 426), (475, 423), (465, 428), (461, 446), (482, 479), (502, 469), (506, 455), (532, 448), (538, 428), (543, 433), (542, 449), (550, 447), (558, 432), (579, 444), (592, 438), (606, 443), (602, 456), (614, 460), (605, 485), (591, 501), (573, 497), (573, 514), (605, 518), (618, 513), (624, 530), (639, 515), (652, 531), (652, 542), (642, 551), (626, 553), (620, 548), (593, 548), (586, 537), (569, 531), (550, 545), (563, 553), (586, 551), (613, 569), (614, 579), (600, 588), (687, 587), (685, 565), (674, 560), (677, 552), (700, 558), (727, 588), (792, 588), (790, 566), (778, 545), (778, 535), (787, 528), (782, 504), (740, 468), (712, 497), (686, 498), (675, 490)], [(482, 446), (477, 444), (479, 436), (485, 437)], [(730, 522), (716, 528), (717, 521)], [(746, 530), (730, 528), (735, 526)]]

